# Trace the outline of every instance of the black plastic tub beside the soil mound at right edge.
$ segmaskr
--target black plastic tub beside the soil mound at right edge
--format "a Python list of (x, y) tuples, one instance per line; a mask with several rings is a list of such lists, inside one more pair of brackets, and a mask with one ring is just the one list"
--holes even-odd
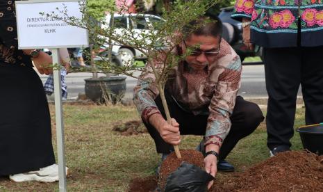
[(301, 136), (304, 149), (319, 155), (323, 154), (323, 123), (299, 127), (296, 131)]

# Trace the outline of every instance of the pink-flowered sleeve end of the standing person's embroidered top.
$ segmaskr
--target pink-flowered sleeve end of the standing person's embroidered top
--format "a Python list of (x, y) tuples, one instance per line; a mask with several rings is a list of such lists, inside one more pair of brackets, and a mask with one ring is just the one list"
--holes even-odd
[(231, 17), (241, 22), (243, 17), (251, 19), (253, 12), (254, 0), (236, 0)]

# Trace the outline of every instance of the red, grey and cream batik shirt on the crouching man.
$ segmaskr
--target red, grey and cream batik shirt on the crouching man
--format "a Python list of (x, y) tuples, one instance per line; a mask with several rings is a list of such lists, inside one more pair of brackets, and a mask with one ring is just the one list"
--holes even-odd
[[(160, 63), (155, 66), (162, 67)], [(213, 143), (222, 145), (222, 141), (231, 128), (230, 115), (235, 105), (235, 97), (240, 88), (241, 61), (231, 46), (222, 39), (220, 54), (215, 63), (209, 63), (206, 70), (194, 71), (188, 63), (181, 61), (174, 67), (165, 90), (171, 94), (181, 106), (190, 110), (194, 115), (208, 115), (206, 127), (206, 145)], [(159, 95), (158, 89), (152, 82), (155, 80), (151, 69), (141, 78), (147, 81), (138, 81), (134, 88), (133, 102), (138, 108), (142, 119), (146, 122), (149, 116), (160, 113), (154, 99)]]

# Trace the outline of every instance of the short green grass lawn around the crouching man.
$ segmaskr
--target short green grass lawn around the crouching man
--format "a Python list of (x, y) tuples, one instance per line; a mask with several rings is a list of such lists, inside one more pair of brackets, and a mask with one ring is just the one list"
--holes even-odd
[[(53, 143), (56, 150), (54, 106), (50, 106)], [(126, 191), (134, 177), (154, 174), (160, 160), (149, 134), (121, 136), (112, 131), (120, 122), (139, 120), (134, 106), (64, 105), (65, 157), (70, 175), (67, 191)], [(304, 125), (304, 109), (297, 109), (295, 127)], [(238, 143), (228, 161), (238, 171), (268, 158), (265, 124)], [(193, 149), (201, 136), (184, 136), (181, 149)], [(292, 150), (301, 150), (299, 134), (292, 138)], [(219, 173), (217, 177), (229, 174)], [(0, 177), (0, 191), (58, 191), (58, 182), (14, 183)]]

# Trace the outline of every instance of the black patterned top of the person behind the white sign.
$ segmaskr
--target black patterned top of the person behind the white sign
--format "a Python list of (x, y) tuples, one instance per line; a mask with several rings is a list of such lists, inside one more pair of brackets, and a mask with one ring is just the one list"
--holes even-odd
[(0, 65), (33, 66), (30, 56), (18, 50), (15, 1), (0, 0)]

